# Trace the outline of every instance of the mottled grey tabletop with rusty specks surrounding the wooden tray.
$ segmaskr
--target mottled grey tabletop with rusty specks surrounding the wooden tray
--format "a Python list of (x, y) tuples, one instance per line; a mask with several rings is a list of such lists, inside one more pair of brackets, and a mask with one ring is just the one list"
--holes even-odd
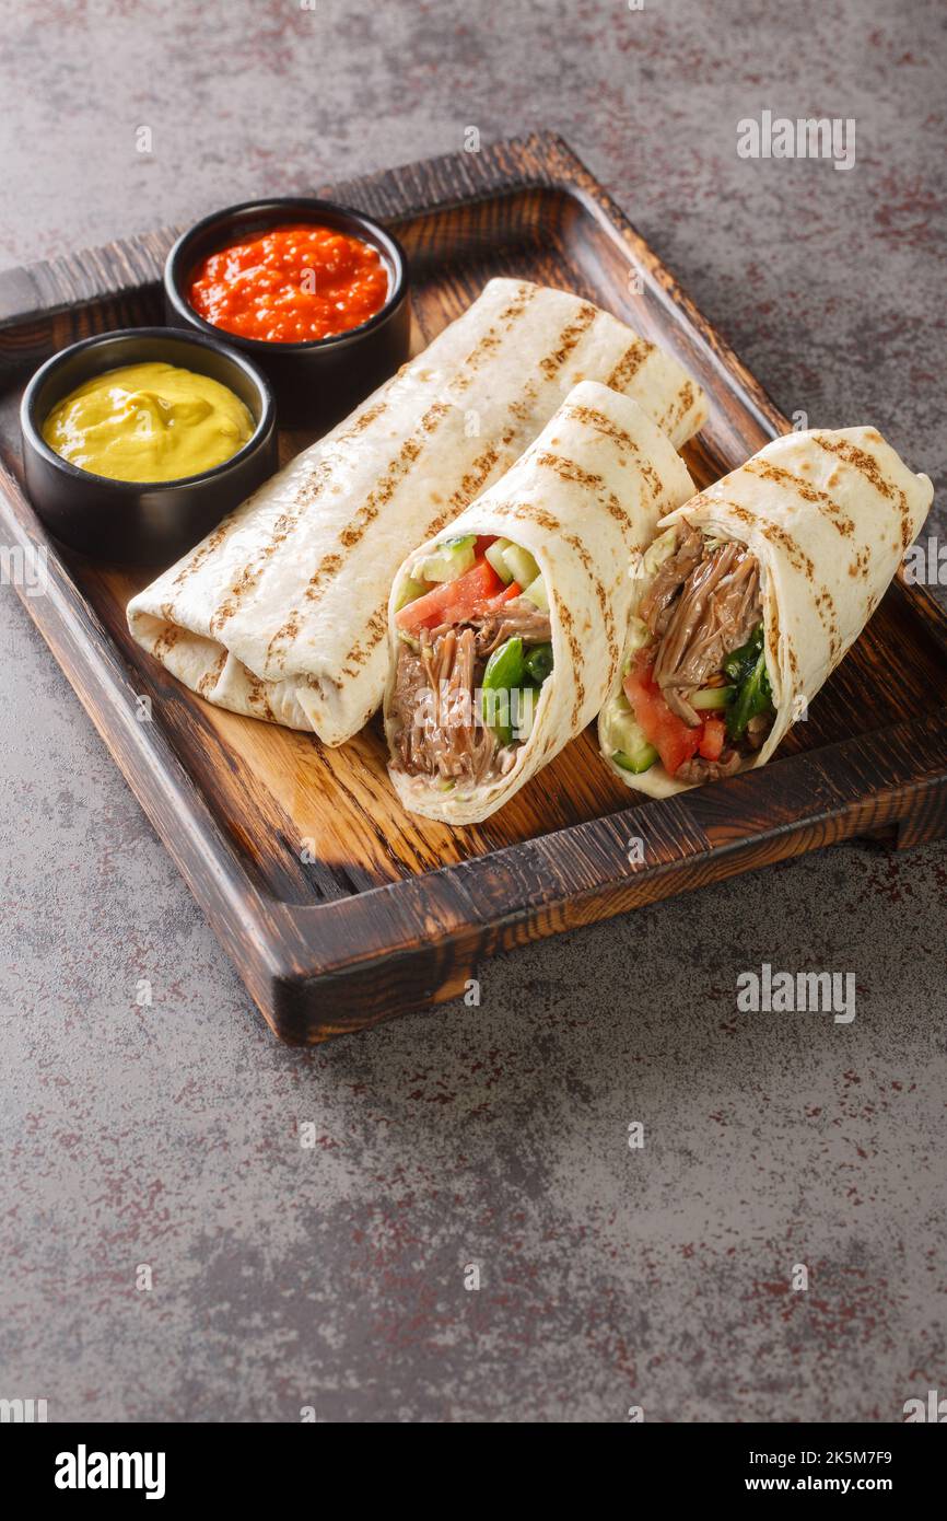
[[(938, 0), (2, 23), (0, 262), (552, 126), (787, 412), (873, 421), (942, 485)], [(856, 167), (740, 161), (763, 108), (854, 117)], [(93, 1421), (897, 1421), (947, 1389), (942, 846), (713, 887), (485, 964), (480, 1008), (301, 1054), (9, 589), (0, 683), (0, 1395)], [(854, 972), (856, 1021), (737, 1015), (762, 961)]]

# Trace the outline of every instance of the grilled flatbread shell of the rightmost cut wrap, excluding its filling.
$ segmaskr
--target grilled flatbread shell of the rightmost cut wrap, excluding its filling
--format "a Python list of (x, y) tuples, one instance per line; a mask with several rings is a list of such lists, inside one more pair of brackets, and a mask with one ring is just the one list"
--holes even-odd
[[(927, 517), (933, 487), (914, 475), (876, 427), (809, 429), (774, 438), (722, 481), (658, 525), (686, 519), (757, 557), (763, 643), (775, 719), (746, 770), (765, 765), (792, 724), (862, 633)], [(651, 580), (638, 575), (632, 616)], [(625, 662), (623, 662), (625, 665)], [(622, 686), (622, 672), (608, 694)], [(689, 785), (655, 762), (634, 774), (607, 753), (616, 776), (649, 797)]]

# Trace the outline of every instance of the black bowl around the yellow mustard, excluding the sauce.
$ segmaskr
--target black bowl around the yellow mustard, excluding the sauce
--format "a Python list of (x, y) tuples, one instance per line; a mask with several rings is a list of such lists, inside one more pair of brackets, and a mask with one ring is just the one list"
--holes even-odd
[[(43, 424), (70, 391), (106, 370), (169, 364), (230, 386), (257, 424), (231, 459), (181, 481), (111, 481), (68, 464)], [(100, 560), (170, 564), (277, 468), (277, 409), (257, 367), (217, 338), (166, 327), (126, 327), (64, 348), (36, 371), (20, 408), (32, 503), (56, 538)]]

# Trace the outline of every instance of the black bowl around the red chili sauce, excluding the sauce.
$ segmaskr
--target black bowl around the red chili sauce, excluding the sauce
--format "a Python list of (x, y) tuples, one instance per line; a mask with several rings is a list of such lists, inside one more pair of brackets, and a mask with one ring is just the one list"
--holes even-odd
[[(377, 248), (388, 266), (388, 301), (368, 322), (334, 338), (271, 344), (213, 327), (187, 298), (198, 265), (240, 239), (287, 222), (319, 222)], [(245, 201), (214, 211), (178, 239), (164, 265), (164, 307), (173, 327), (223, 338), (269, 377), (280, 421), (324, 430), (351, 412), (375, 386), (404, 364), (410, 345), (407, 257), (383, 227), (331, 201), (286, 196)]]

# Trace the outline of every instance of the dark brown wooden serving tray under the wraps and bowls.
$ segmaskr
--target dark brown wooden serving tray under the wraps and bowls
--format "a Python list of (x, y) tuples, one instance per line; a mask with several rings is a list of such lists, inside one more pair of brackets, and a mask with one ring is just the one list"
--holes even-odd
[[(389, 222), (413, 266), (415, 348), (497, 274), (562, 286), (625, 318), (701, 382), (686, 450), (699, 485), (789, 424), (658, 257), (553, 135), (324, 187)], [(167, 228), (0, 274), (0, 514), (44, 546), (21, 596), (138, 802), (284, 1040), (316, 1042), (464, 990), (480, 957), (859, 834), (947, 830), (947, 618), (892, 586), (868, 630), (760, 771), (663, 802), (599, 760), (594, 727), (485, 824), (404, 814), (377, 721), (351, 744), (205, 704), (129, 639), (140, 575), (58, 548), (21, 485), (17, 408), (50, 351), (161, 321)], [(879, 426), (883, 427), (883, 418)], [(283, 440), (289, 458), (309, 440)], [(406, 549), (410, 546), (406, 546)], [(137, 698), (152, 700), (140, 722)], [(643, 843), (634, 859), (629, 840)]]

